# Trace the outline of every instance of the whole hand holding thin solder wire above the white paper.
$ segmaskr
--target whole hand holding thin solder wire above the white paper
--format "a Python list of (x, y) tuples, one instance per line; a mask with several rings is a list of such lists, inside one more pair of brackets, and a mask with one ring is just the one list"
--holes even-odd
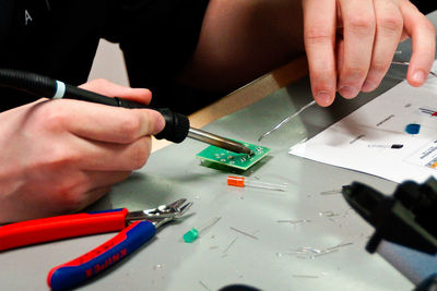
[[(435, 58), (435, 28), (408, 0), (303, 0), (304, 39), (311, 90), (320, 106), (335, 92), (354, 98), (378, 87), (398, 44), (412, 39), (406, 75), (426, 81)], [(339, 34), (340, 33), (340, 34)]]

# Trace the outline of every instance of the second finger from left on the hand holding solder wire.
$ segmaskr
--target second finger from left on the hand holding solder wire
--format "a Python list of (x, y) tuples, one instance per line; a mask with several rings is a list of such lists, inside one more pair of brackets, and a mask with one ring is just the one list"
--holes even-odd
[[(341, 0), (344, 54), (339, 74), (339, 93), (354, 98), (362, 89), (370, 68), (376, 31), (371, 0)], [(357, 13), (359, 11), (359, 13)]]

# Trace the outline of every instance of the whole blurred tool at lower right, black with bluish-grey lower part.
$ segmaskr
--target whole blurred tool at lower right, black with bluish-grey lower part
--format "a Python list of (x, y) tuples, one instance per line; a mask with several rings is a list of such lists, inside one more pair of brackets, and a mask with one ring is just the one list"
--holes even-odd
[(358, 182), (343, 186), (346, 202), (371, 226), (367, 243), (416, 284), (415, 291), (437, 290), (437, 180), (405, 181), (393, 195)]

